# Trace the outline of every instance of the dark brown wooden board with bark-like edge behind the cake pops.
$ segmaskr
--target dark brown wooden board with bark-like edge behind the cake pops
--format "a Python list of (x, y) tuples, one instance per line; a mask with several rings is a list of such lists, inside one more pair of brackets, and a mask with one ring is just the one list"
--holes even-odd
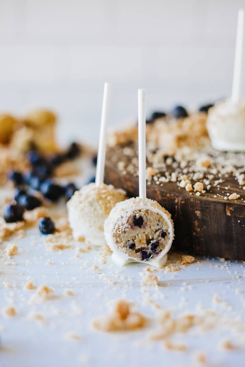
[[(115, 149), (115, 148), (112, 148)], [(138, 178), (122, 174), (116, 165), (113, 150), (105, 167), (105, 183), (123, 188), (129, 196), (138, 196)], [(214, 197), (221, 192), (236, 192), (239, 200)], [(158, 201), (172, 215), (174, 221), (174, 248), (199, 255), (245, 260), (245, 191), (229, 176), (220, 188), (212, 188), (205, 196), (190, 195), (176, 182), (163, 186), (147, 185), (147, 197)], [(241, 198), (243, 200), (241, 200)]]

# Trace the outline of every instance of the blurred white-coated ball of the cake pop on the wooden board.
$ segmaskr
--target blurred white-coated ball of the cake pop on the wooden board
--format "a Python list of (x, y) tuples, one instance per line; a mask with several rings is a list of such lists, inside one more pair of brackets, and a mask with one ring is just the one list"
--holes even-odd
[(218, 102), (209, 109), (207, 129), (214, 149), (245, 151), (245, 102)]

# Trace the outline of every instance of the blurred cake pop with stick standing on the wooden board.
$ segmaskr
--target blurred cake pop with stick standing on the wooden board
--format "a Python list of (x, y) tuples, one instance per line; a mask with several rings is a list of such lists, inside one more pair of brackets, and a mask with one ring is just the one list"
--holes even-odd
[(207, 128), (213, 148), (245, 151), (245, 101), (240, 100), (244, 10), (238, 12), (231, 98), (209, 109)]

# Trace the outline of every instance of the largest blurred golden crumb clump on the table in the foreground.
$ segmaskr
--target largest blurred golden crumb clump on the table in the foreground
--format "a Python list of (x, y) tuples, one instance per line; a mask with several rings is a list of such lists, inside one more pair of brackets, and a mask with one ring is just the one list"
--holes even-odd
[(107, 332), (143, 328), (146, 318), (139, 312), (133, 312), (132, 307), (131, 302), (123, 299), (116, 301), (111, 314), (98, 317), (93, 321), (94, 328)]

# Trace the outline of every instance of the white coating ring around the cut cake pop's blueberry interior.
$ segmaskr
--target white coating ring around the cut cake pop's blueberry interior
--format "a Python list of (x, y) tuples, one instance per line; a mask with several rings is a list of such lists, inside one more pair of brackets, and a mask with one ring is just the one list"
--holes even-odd
[[(136, 260), (129, 255), (129, 251), (126, 253), (123, 252), (122, 249), (120, 249), (120, 244), (117, 244), (114, 239), (114, 233), (116, 232), (115, 227), (118, 223), (126, 223), (127, 219), (134, 215), (138, 210), (147, 210), (149, 213), (154, 212), (161, 215), (167, 225), (168, 241), (165, 244), (165, 248), (158, 255), (147, 260)], [(156, 201), (151, 199), (140, 199), (139, 197), (131, 198), (116, 204), (105, 221), (104, 229), (107, 244), (113, 251), (112, 259), (118, 265), (125, 265), (129, 262), (142, 262), (144, 264), (155, 266), (156, 268), (162, 268), (167, 260), (166, 254), (172, 245), (174, 237), (173, 221), (170, 213), (161, 207), (161, 205)], [(143, 228), (142, 230), (144, 231)]]

